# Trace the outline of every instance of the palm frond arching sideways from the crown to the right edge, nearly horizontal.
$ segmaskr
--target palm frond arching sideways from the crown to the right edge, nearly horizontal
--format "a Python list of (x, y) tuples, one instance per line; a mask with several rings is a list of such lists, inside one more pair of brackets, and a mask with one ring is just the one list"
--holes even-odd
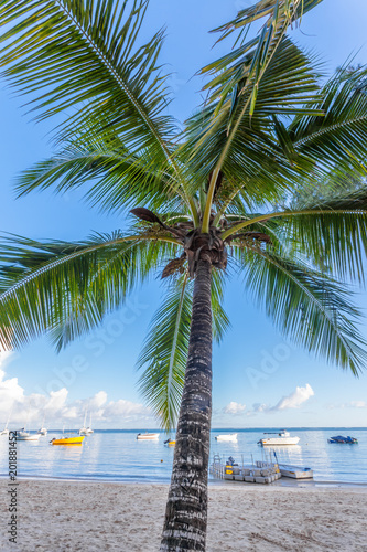
[(365, 280), (367, 254), (367, 189), (339, 198), (299, 205), (296, 210), (262, 215), (247, 215), (234, 223), (223, 238), (236, 236), (244, 229), (262, 226), (262, 232), (282, 236), (289, 252), (307, 256), (315, 267), (332, 272), (338, 278)]

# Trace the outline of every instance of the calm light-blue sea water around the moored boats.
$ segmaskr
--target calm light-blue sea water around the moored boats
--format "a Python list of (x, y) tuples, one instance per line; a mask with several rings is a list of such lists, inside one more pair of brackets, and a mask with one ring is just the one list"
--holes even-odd
[[(263, 432), (276, 429), (226, 429), (212, 432), (213, 454), (233, 456), (245, 464), (261, 459), (262, 448), (257, 442)], [(217, 443), (219, 433), (238, 433), (237, 443)], [(277, 447), (279, 461), (309, 466), (315, 481), (367, 484), (367, 428), (356, 429), (290, 429), (300, 437), (300, 444)], [(52, 446), (50, 439), (61, 432), (50, 431), (39, 442), (18, 443), (18, 475), (20, 477), (77, 478), (105, 481), (169, 482), (174, 448), (160, 439), (137, 440), (139, 431), (96, 431), (86, 437), (82, 447)], [(333, 435), (352, 435), (358, 445), (331, 445)], [(226, 459), (225, 458), (225, 459)], [(0, 436), (1, 476), (7, 476), (8, 438)]]

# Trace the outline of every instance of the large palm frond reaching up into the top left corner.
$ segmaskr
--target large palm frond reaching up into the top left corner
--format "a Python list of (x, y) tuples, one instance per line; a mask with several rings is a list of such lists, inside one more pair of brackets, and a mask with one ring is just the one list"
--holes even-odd
[(132, 153), (144, 150), (162, 170), (173, 168), (196, 216), (172, 157), (177, 127), (163, 114), (163, 31), (139, 44), (147, 7), (147, 0), (1, 0), (9, 30), (0, 38), (0, 66), (12, 87), (31, 94), (37, 118), (72, 109), (61, 141), (88, 127), (95, 136), (118, 136)]

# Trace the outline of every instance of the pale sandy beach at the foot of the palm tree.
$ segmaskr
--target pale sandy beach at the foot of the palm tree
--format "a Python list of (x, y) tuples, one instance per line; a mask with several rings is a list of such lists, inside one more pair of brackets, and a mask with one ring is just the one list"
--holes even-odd
[[(0, 482), (0, 550), (158, 551), (168, 486), (22, 480), (17, 546), (6, 537)], [(209, 487), (208, 552), (367, 551), (367, 489)]]

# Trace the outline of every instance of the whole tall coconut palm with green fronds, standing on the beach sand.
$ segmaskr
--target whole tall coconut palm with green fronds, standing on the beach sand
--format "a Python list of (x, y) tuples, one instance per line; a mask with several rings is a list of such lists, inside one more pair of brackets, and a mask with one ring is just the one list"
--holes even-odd
[(235, 46), (202, 71), (207, 97), (184, 130), (165, 112), (163, 32), (139, 38), (145, 1), (0, 1), (4, 76), (39, 119), (66, 114), (57, 152), (21, 176), (19, 194), (84, 187), (93, 205), (134, 221), (73, 243), (3, 235), (1, 344), (48, 333), (60, 350), (165, 265), (168, 295), (138, 361), (162, 426), (179, 418), (161, 550), (205, 550), (227, 263), (293, 341), (354, 374), (366, 360), (345, 280), (364, 279), (367, 188), (292, 209), (303, 183), (339, 189), (366, 173), (365, 70), (325, 81), (287, 35), (320, 1), (261, 0), (217, 29)]

